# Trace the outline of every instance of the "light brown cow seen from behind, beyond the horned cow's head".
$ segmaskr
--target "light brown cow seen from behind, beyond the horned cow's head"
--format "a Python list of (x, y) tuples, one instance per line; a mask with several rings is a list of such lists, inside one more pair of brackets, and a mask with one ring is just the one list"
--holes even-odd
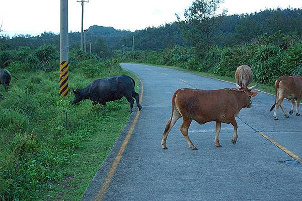
[(252, 69), (248, 65), (241, 65), (235, 73), (236, 83), (241, 87), (248, 87), (253, 81)]

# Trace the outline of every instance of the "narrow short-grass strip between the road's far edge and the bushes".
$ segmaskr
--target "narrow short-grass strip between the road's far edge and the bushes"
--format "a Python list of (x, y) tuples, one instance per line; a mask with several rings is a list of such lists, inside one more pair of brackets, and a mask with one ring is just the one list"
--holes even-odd
[[(137, 62), (137, 63), (139, 63), (139, 62)], [(163, 68), (167, 68), (167, 69), (175, 69), (175, 70), (179, 70), (179, 71), (198, 74), (198, 75), (209, 77), (209, 78), (215, 78), (215, 79), (219, 79), (219, 80), (232, 82), (234, 84), (236, 82), (235, 75), (234, 75), (234, 78), (231, 78), (231, 77), (226, 77), (226, 76), (218, 76), (218, 75), (211, 74), (211, 73), (205, 73), (205, 72), (193, 71), (193, 70), (189, 70), (189, 69), (183, 69), (183, 68), (180, 68), (178, 66), (157, 65), (157, 64), (149, 64), (149, 63), (140, 63), (140, 64), (154, 65), (154, 66), (159, 66), (159, 67), (163, 67)], [(252, 85), (255, 85), (255, 84), (256, 84), (255, 82), (252, 82), (249, 86), (252, 86)], [(256, 89), (267, 92), (267, 93), (270, 93), (270, 94), (273, 94), (273, 95), (275, 94), (275, 88), (272, 87), (272, 86), (258, 84)]]

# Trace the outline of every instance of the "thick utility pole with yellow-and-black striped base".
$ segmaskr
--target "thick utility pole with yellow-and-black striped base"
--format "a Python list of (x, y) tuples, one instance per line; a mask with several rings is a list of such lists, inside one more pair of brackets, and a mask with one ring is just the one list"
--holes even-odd
[(68, 0), (61, 0), (60, 19), (60, 97), (68, 96)]

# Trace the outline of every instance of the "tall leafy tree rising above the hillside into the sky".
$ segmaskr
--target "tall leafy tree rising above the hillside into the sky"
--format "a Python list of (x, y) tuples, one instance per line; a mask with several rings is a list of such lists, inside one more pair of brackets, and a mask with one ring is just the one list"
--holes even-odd
[(221, 25), (226, 10), (218, 13), (219, 4), (223, 0), (194, 0), (192, 6), (185, 10), (185, 23), (189, 30), (187, 36), (194, 40), (195, 44), (203, 44), (209, 50), (212, 44), (212, 37), (217, 28)]

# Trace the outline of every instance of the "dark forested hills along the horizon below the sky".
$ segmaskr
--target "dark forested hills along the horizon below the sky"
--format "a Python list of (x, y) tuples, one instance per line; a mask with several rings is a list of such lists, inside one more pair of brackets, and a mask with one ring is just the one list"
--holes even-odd
[[(176, 19), (176, 18), (175, 18)], [(196, 46), (194, 41), (187, 40), (185, 33), (191, 27), (188, 26), (185, 32), (182, 31), (184, 21), (167, 23), (159, 27), (148, 27), (135, 32), (116, 30), (112, 27), (93, 25), (87, 30), (87, 41), (92, 41), (92, 52), (103, 56), (111, 57), (113, 50), (121, 49), (122, 45), (126, 51), (132, 50), (132, 36), (135, 37), (134, 48), (136, 50), (160, 50), (175, 45), (190, 47)], [(302, 9), (266, 9), (259, 13), (230, 15), (223, 18), (212, 37), (213, 45), (233, 46), (252, 42), (263, 34), (272, 35), (279, 30), (283, 34), (296, 32), (301, 36), (302, 32)], [(5, 27), (4, 27), (5, 29)], [(198, 32), (195, 32), (198, 35)], [(103, 46), (98, 45), (102, 40)], [(42, 33), (40, 36), (19, 35), (13, 38), (5, 37), (0, 39), (0, 50), (16, 49), (21, 46), (39, 47), (42, 44), (53, 44), (58, 48), (59, 36), (54, 33)], [(70, 49), (80, 47), (80, 33), (69, 33)], [(89, 43), (87, 42), (89, 51)], [(105, 54), (104, 54), (105, 52)]]

